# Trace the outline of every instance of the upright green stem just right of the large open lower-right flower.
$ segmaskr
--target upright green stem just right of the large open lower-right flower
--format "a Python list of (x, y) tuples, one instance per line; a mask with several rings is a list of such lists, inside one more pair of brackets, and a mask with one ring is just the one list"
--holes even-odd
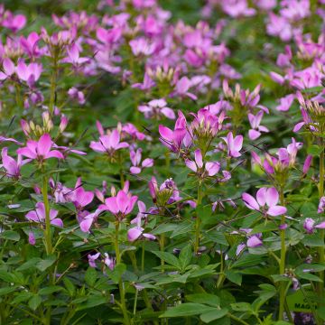
[[(283, 187), (280, 189), (280, 202), (284, 206), (284, 196), (283, 196)], [(281, 217), (281, 225), (284, 225), (285, 217)], [(280, 230), (281, 237), (281, 255), (280, 255), (280, 274), (285, 273), (285, 229)], [(285, 302), (285, 283), (280, 283), (280, 302), (279, 302), (279, 320), (283, 320), (284, 312), (284, 302)]]

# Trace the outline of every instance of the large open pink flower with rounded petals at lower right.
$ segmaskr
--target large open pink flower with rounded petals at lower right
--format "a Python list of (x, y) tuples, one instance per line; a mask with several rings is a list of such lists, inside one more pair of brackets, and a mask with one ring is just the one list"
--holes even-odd
[(254, 209), (272, 217), (280, 216), (286, 212), (286, 208), (278, 206), (279, 193), (274, 188), (262, 188), (257, 190), (256, 200), (248, 193), (243, 193), (242, 200), (248, 209)]

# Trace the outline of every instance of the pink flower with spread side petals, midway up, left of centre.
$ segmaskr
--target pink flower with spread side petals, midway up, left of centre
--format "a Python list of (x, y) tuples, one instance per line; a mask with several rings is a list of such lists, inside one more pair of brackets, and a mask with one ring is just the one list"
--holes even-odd
[(120, 142), (120, 135), (115, 129), (108, 135), (99, 136), (99, 141), (92, 141), (89, 146), (98, 153), (107, 153), (109, 156), (112, 156), (117, 150), (126, 148), (129, 144)]

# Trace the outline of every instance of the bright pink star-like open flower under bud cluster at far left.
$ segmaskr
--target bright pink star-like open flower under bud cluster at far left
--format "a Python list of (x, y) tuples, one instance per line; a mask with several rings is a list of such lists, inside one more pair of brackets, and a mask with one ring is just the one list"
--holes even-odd
[(51, 136), (45, 134), (40, 137), (39, 141), (28, 140), (27, 145), (23, 148), (19, 148), (17, 153), (30, 159), (36, 159), (41, 163), (49, 158), (64, 159), (60, 151), (51, 150), (52, 146)]

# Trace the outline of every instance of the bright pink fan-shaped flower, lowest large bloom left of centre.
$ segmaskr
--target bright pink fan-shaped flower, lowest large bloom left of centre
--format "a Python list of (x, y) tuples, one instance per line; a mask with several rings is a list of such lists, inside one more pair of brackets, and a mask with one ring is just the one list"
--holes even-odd
[(99, 209), (111, 212), (119, 220), (125, 218), (135, 208), (137, 196), (126, 194), (124, 190), (119, 190), (117, 195), (105, 200), (105, 204), (101, 204)]

